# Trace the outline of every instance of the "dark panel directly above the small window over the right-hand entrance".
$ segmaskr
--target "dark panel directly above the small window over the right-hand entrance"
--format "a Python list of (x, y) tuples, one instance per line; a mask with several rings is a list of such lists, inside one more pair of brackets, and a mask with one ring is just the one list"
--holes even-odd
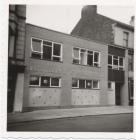
[(109, 46), (108, 47), (108, 53), (112, 54), (112, 55), (115, 55), (115, 56), (125, 57), (125, 49), (121, 49), (121, 48), (116, 48), (116, 47)]

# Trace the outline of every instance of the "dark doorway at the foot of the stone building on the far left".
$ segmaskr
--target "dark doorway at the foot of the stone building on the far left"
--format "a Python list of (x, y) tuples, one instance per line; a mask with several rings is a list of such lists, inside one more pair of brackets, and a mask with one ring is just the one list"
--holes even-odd
[(13, 111), (14, 97), (15, 97), (16, 73), (8, 73), (8, 95), (7, 95), (7, 111)]

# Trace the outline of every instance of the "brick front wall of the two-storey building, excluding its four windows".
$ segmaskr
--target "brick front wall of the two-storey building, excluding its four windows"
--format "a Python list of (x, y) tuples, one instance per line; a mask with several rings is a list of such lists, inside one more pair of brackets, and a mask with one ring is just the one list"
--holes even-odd
[[(53, 62), (30, 58), (31, 37), (37, 37), (63, 44), (63, 61)], [(72, 64), (73, 47), (86, 48), (101, 52), (101, 66), (88, 67)], [(23, 107), (30, 106), (71, 106), (71, 105), (105, 105), (107, 104), (107, 56), (108, 46), (59, 32), (27, 24), (26, 26), (26, 54), (25, 54), (25, 82)], [(29, 86), (30, 75), (61, 77), (61, 88), (32, 88)], [(72, 78), (100, 80), (100, 90), (72, 89)], [(51, 92), (50, 92), (51, 90)], [(56, 92), (55, 92), (56, 91)], [(84, 93), (82, 93), (84, 92)], [(79, 96), (80, 95), (80, 101)], [(89, 94), (90, 93), (90, 94)], [(51, 94), (51, 95), (49, 95)], [(82, 95), (81, 95), (82, 94)], [(84, 96), (84, 95), (86, 96)], [(41, 96), (41, 97), (39, 97)], [(52, 99), (47, 99), (51, 96)], [(86, 99), (85, 99), (86, 98)], [(88, 100), (91, 98), (90, 100)], [(94, 98), (94, 100), (93, 100)], [(55, 101), (56, 100), (56, 101)], [(35, 104), (33, 104), (33, 101)], [(41, 102), (40, 102), (41, 101)], [(46, 104), (44, 104), (46, 102)], [(82, 104), (83, 102), (83, 104)]]

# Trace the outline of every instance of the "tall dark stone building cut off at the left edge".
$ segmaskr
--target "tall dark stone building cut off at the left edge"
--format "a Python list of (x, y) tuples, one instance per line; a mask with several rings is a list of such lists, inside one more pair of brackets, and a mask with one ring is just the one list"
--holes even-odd
[(17, 102), (18, 94), (23, 94), (25, 55), (25, 5), (9, 6), (8, 45), (8, 112), (21, 111)]

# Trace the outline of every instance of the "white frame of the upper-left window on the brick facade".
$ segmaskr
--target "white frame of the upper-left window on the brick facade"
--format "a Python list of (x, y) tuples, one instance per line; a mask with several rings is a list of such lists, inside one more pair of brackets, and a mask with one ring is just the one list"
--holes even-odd
[[(33, 39), (36, 39), (36, 40), (41, 40), (42, 41), (42, 43), (41, 43), (41, 52), (39, 52), (39, 51), (34, 51), (33, 50), (33, 47), (32, 47), (32, 40)], [(43, 42), (51, 42), (52, 43), (52, 45), (45, 45)], [(54, 55), (53, 54), (53, 50), (54, 50), (54, 44), (59, 44), (60, 45), (60, 56), (58, 56), (58, 55)], [(46, 59), (43, 59), (43, 46), (49, 46), (49, 47), (51, 47), (52, 49), (51, 49), (51, 51), (52, 51), (52, 54), (51, 54), (51, 60), (49, 60), (49, 61), (55, 61), (55, 60), (53, 60), (53, 57), (57, 57), (57, 58), (60, 58), (60, 60), (59, 61), (55, 61), (55, 62), (62, 62), (63, 61), (63, 44), (62, 43), (58, 43), (58, 42), (54, 42), (54, 41), (50, 41), (50, 40), (47, 40), (47, 39), (40, 39), (40, 38), (37, 38), (37, 37), (31, 37), (31, 54), (30, 54), (30, 56), (32, 57), (32, 52), (35, 52), (35, 53), (41, 53), (41, 59), (42, 60), (46, 60)], [(33, 57), (32, 57), (33, 58)], [(48, 61), (48, 60), (47, 60)]]

